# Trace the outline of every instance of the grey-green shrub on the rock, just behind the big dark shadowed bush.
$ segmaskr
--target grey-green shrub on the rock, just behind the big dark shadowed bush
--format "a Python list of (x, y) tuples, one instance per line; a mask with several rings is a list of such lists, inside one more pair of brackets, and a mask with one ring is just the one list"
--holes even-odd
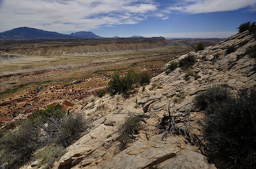
[(206, 108), (209, 104), (227, 100), (230, 96), (230, 89), (221, 87), (220, 84), (213, 84), (205, 92), (196, 95), (195, 103), (200, 107)]

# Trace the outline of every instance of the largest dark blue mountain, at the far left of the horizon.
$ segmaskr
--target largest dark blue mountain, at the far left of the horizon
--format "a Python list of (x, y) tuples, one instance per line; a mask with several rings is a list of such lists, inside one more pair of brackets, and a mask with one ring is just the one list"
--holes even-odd
[(36, 28), (19, 27), (0, 33), (0, 39), (39, 39), (39, 38), (77, 38), (71, 35), (39, 30)]

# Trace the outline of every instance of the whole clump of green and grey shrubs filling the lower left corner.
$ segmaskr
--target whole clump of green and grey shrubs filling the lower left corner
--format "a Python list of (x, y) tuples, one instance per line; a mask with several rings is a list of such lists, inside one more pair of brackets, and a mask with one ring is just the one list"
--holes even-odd
[(0, 138), (0, 166), (19, 168), (38, 148), (52, 144), (66, 147), (78, 139), (88, 127), (83, 116), (66, 114), (61, 106), (56, 107), (40, 111), (33, 120), (25, 120), (14, 130), (4, 133)]

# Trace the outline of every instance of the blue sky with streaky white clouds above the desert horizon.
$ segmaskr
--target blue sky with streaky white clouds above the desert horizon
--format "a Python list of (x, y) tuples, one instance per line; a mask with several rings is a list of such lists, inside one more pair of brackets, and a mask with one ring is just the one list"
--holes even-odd
[(256, 0), (0, 0), (0, 32), (226, 38), (245, 21), (256, 21)]

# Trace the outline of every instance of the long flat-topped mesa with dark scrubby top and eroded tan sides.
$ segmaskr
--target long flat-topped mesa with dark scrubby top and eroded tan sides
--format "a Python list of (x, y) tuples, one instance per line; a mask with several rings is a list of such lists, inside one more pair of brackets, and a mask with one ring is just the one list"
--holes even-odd
[[(13, 40), (14, 41), (14, 40)], [(163, 37), (154, 38), (105, 38), (105, 39), (56, 39), (3, 41), (0, 51), (18, 55), (87, 55), (94, 53), (152, 49), (168, 45)]]

